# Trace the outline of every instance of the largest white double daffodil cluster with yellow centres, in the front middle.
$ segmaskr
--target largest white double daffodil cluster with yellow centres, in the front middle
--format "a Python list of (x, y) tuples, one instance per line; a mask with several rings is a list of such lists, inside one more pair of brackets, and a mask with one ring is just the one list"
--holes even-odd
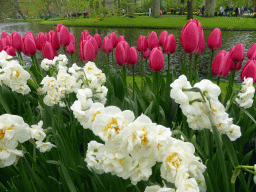
[(152, 167), (161, 162), (161, 176), (175, 183), (177, 191), (206, 191), (206, 167), (194, 155), (194, 146), (171, 137), (169, 128), (143, 114), (135, 119), (130, 110), (100, 103), (93, 103), (85, 118), (86, 126), (105, 142), (88, 144), (85, 161), (90, 170), (129, 178), (136, 185), (148, 180)]

